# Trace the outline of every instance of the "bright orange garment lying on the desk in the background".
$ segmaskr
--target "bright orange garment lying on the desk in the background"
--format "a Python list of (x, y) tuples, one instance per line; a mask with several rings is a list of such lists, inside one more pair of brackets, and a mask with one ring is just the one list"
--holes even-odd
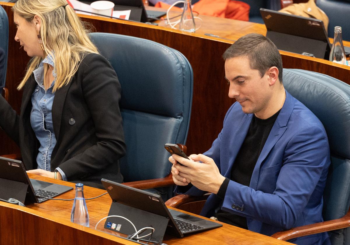
[[(170, 5), (158, 2), (155, 7), (168, 9)], [(181, 9), (173, 7), (172, 10)], [(203, 15), (249, 21), (250, 6), (234, 0), (200, 0), (193, 5), (192, 10)]]

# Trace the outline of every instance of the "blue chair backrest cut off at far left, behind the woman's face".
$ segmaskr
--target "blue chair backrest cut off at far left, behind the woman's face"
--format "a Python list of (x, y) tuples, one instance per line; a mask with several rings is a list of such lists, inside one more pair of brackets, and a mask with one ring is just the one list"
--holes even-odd
[(5, 87), (8, 54), (8, 18), (5, 9), (0, 6), (0, 95)]

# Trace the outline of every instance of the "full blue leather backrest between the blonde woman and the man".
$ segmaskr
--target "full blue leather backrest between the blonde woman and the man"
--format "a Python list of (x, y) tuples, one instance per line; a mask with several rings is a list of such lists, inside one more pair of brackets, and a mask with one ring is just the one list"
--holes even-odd
[(165, 177), (171, 164), (164, 144), (185, 144), (187, 138), (193, 94), (190, 63), (179, 51), (150, 40), (110, 33), (90, 37), (121, 84), (124, 181)]

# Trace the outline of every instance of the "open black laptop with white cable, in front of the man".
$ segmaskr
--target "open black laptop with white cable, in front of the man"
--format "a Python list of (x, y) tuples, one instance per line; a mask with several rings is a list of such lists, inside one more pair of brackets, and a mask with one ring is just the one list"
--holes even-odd
[[(168, 209), (160, 195), (106, 179), (102, 179), (101, 182), (113, 200), (109, 216), (124, 216), (132, 221), (137, 229), (151, 225), (155, 228), (152, 240), (160, 242), (165, 231), (181, 238), (189, 233), (222, 226), (207, 219)], [(127, 221), (116, 217), (107, 218), (105, 228), (127, 235), (135, 232)]]

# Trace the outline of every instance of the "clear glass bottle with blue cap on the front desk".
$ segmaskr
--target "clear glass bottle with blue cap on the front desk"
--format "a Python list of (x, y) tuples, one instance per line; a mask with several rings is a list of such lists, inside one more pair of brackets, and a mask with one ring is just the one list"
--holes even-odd
[(84, 198), (84, 184), (82, 183), (75, 184), (75, 199), (70, 221), (89, 227), (89, 214), (87, 213), (87, 207)]

